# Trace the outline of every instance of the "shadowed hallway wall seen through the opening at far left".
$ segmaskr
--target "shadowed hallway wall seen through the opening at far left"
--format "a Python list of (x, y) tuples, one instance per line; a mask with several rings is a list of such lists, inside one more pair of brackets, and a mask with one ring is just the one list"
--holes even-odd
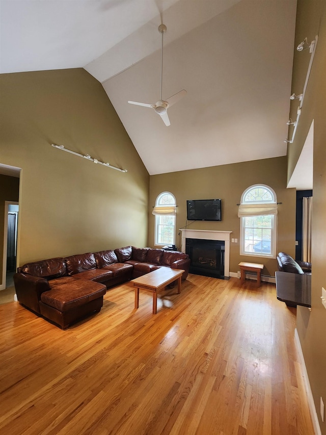
[[(0, 174), (0, 287), (3, 274), (4, 257), (4, 229), (5, 229), (5, 201), (18, 201), (19, 178)], [(8, 219), (8, 217), (7, 217)]]

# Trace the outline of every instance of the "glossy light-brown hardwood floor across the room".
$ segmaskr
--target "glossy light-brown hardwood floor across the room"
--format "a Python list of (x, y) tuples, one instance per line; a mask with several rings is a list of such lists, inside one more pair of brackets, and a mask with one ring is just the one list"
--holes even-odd
[(311, 435), (294, 348), (295, 309), (273, 284), (189, 275), (130, 283), (63, 331), (0, 305), (0, 433)]

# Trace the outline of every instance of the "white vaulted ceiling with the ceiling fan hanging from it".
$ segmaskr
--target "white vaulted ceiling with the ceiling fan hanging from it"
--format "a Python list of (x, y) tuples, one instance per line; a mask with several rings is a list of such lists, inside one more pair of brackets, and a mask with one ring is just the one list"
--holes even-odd
[[(150, 174), (286, 155), (296, 0), (1, 0), (0, 71), (84, 67)], [(163, 97), (185, 89), (167, 127)], [(68, 147), (69, 144), (65, 144)]]

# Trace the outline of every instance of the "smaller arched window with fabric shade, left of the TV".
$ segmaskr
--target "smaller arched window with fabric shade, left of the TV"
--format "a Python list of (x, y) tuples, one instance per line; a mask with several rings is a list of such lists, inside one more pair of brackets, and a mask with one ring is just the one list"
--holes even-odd
[(171, 192), (160, 193), (155, 201), (155, 245), (172, 246), (175, 244), (176, 200)]

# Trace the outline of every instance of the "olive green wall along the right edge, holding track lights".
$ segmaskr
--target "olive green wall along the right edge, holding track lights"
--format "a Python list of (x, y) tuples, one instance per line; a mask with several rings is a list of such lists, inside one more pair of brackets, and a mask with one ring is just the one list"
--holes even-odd
[[(298, 0), (295, 44), (305, 37), (310, 42), (316, 35), (314, 62), (288, 158), (290, 176), (314, 121), (311, 312), (298, 307), (296, 327), (320, 430), (326, 435), (326, 415), (322, 422), (319, 411), (320, 397), (326, 405), (326, 310), (320, 300), (321, 287), (326, 289), (326, 2)], [(308, 51), (294, 50), (292, 92), (296, 94), (303, 90), (310, 58)]]

